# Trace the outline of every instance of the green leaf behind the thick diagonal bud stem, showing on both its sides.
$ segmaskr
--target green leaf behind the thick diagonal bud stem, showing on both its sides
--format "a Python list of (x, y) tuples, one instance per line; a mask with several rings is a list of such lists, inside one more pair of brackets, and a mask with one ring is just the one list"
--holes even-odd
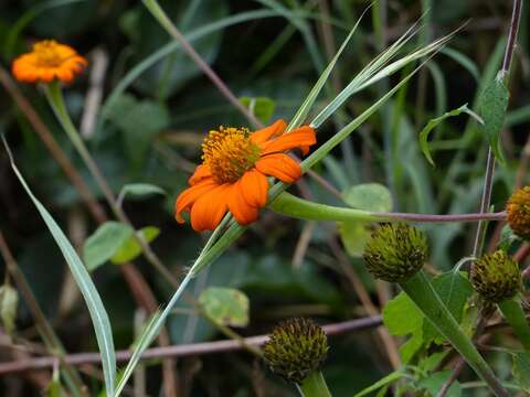
[[(469, 280), (465, 278), (462, 272), (448, 271), (435, 277), (432, 283), (451, 314), (453, 314), (457, 322), (460, 322), (464, 307), (473, 294), (473, 287)], [(445, 337), (443, 337), (428, 321), (425, 321), (423, 325), (423, 339), (425, 343), (434, 341), (441, 344), (445, 341)]]

